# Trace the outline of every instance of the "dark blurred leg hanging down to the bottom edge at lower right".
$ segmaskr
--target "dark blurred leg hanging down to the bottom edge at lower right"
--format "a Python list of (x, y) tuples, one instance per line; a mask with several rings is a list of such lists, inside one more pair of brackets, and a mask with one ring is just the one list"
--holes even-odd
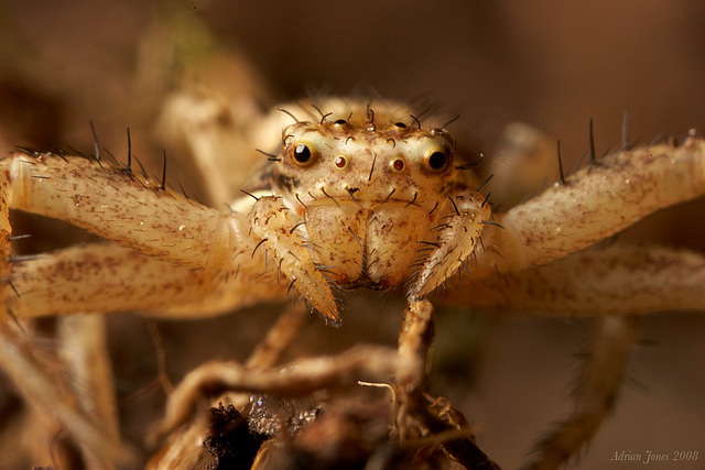
[(531, 470), (557, 469), (584, 448), (617, 400), (631, 346), (638, 339), (636, 317), (599, 320), (575, 386), (573, 413), (536, 445)]

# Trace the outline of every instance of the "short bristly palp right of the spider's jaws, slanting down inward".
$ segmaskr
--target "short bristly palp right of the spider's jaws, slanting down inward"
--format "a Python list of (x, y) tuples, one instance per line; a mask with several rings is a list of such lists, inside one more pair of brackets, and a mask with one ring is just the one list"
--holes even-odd
[(484, 225), (490, 219), (491, 210), (486, 198), (475, 190), (459, 190), (448, 196), (448, 214), (431, 229), (437, 238), (429, 242), (433, 249), (411, 287), (411, 299), (430, 294), (455, 274), (473, 254)]

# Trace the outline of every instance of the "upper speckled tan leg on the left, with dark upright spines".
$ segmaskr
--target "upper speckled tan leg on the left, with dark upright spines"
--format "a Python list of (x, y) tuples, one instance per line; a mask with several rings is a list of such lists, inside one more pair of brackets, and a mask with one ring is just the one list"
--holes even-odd
[(95, 160), (15, 154), (0, 161), (0, 178), (6, 208), (66, 220), (175, 264), (220, 269), (246, 242), (234, 217)]

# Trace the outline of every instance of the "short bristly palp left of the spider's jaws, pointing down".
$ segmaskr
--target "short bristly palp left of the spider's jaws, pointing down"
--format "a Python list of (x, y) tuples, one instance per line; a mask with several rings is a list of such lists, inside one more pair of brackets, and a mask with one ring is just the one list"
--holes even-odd
[(278, 277), (283, 274), (291, 282), (290, 288), (295, 288), (307, 304), (337, 324), (338, 307), (328, 281), (311, 255), (315, 247), (304, 237), (303, 219), (273, 196), (260, 197), (252, 206), (250, 219), (252, 232), (274, 259)]

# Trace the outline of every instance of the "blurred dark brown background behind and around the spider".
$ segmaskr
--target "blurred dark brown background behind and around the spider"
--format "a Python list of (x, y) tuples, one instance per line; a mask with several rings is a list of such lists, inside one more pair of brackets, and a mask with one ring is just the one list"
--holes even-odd
[[(705, 4), (685, 0), (0, 1), (0, 144), (90, 151), (91, 120), (101, 145), (120, 156), (130, 127), (141, 160), (159, 173), (160, 100), (198, 84), (228, 97), (253, 95), (263, 105), (322, 92), (429, 98), (459, 113), (488, 156), (503, 125), (519, 120), (561, 139), (565, 166), (573, 168), (588, 150), (589, 119), (598, 152), (621, 145), (625, 111), (630, 140), (640, 143), (703, 130), (704, 20)], [(197, 194), (187, 174), (176, 168), (173, 177)], [(704, 218), (705, 201), (690, 203), (622, 239), (705, 250)], [(401, 311), (383, 305), (388, 316)], [(159, 416), (163, 396), (137, 394), (154, 379), (154, 350), (144, 320), (123, 317), (110, 319), (111, 347), (123, 431), (137, 439), (144, 423), (133, 415)], [(307, 335), (339, 345), (393, 341), (398, 318), (381, 325), (364, 318), (350, 309), (339, 330), (312, 326)], [(460, 313), (442, 313), (438, 321), (444, 373), (434, 393), (449, 395), (476, 425), (492, 459), (516, 468), (550, 423), (568, 413), (572, 354), (585, 345), (590, 323), (522, 317), (486, 324)], [(267, 326), (257, 308), (160, 323), (172, 379), (206, 358), (243, 358)], [(370, 337), (372, 328), (378, 337)], [(359, 331), (368, 334), (356, 337)], [(636, 349), (631, 380), (581, 460), (584, 468), (641, 468), (610, 462), (622, 450), (696, 450), (699, 461), (671, 464), (702, 467), (703, 332), (697, 315), (644, 319), (641, 336), (655, 345)], [(469, 346), (470, 336), (479, 336), (481, 347)]]

